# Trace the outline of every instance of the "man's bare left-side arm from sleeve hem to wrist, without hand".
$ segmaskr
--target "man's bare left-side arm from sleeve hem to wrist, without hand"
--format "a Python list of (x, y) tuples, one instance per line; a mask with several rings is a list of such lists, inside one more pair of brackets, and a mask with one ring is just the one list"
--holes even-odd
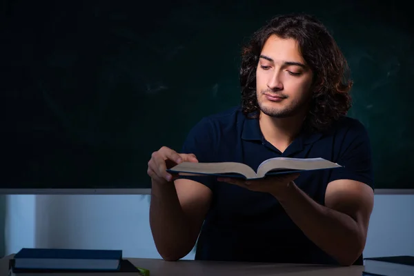
[(150, 227), (163, 259), (176, 261), (190, 253), (211, 197), (209, 188), (189, 179), (177, 179), (175, 185), (152, 184)]

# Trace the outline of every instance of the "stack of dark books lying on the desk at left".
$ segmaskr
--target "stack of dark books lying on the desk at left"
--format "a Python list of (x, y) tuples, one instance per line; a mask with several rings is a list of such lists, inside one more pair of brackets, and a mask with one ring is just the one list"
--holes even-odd
[(122, 250), (22, 248), (9, 262), (10, 276), (149, 276), (122, 258)]

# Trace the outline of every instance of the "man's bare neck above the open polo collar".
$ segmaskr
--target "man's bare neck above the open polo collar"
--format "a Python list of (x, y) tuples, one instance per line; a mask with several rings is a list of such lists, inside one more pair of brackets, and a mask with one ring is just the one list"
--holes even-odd
[(299, 135), (304, 118), (302, 114), (288, 118), (274, 118), (260, 112), (259, 126), (264, 139), (284, 152)]

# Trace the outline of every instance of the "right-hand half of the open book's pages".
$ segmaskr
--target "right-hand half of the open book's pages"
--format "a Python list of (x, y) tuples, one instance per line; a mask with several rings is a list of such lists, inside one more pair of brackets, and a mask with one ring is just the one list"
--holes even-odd
[(267, 172), (277, 170), (318, 170), (323, 168), (337, 168), (338, 164), (323, 158), (287, 158), (276, 157), (268, 159), (260, 164), (257, 175), (263, 177)]

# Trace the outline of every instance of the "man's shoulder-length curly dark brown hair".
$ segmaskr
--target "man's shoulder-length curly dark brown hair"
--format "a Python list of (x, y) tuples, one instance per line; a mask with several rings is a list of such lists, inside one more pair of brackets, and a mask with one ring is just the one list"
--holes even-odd
[(254, 117), (257, 117), (256, 69), (264, 43), (272, 34), (283, 39), (295, 39), (313, 71), (313, 96), (304, 128), (323, 131), (346, 115), (351, 108), (349, 91), (353, 85), (348, 63), (326, 27), (308, 14), (274, 17), (257, 30), (242, 49), (240, 84), (244, 114), (256, 114)]

